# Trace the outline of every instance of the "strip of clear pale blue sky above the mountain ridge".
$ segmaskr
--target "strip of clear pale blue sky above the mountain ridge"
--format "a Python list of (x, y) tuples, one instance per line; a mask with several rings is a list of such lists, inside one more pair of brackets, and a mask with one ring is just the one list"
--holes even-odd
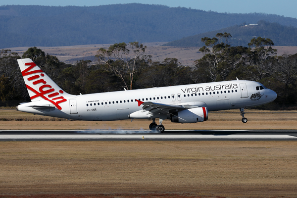
[(297, 0), (0, 0), (0, 5), (94, 6), (118, 3), (161, 4), (227, 13), (260, 12), (297, 18)]

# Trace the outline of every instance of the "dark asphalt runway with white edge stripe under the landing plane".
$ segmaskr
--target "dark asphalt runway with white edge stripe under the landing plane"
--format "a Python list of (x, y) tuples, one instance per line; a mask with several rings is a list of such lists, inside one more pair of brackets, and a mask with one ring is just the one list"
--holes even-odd
[(0, 141), (297, 141), (297, 130), (0, 130)]

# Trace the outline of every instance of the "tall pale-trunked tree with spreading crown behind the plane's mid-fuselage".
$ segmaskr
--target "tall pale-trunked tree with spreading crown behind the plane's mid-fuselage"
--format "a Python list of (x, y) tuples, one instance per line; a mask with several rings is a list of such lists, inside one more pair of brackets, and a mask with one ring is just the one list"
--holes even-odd
[[(145, 56), (146, 46), (138, 42), (119, 43), (111, 45), (107, 50), (100, 48), (97, 52), (99, 62), (107, 66), (107, 70), (114, 72), (124, 83), (126, 89), (132, 90), (135, 73), (147, 66), (150, 56)], [(132, 51), (132, 54), (130, 53)], [(128, 82), (126, 82), (128, 75)]]

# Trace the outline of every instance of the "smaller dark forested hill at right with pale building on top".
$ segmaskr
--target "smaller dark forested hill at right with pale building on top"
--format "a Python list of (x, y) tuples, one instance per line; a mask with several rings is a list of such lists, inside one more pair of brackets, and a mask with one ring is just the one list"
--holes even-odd
[(230, 33), (232, 36), (232, 38), (229, 39), (231, 46), (247, 47), (250, 40), (257, 37), (269, 38), (273, 41), (275, 46), (297, 46), (297, 28), (293, 26), (283, 26), (278, 23), (269, 23), (263, 20), (253, 25), (235, 25), (221, 30), (186, 37), (169, 42), (163, 46), (202, 47), (204, 43), (201, 42), (201, 38), (213, 38), (217, 33), (225, 32)]

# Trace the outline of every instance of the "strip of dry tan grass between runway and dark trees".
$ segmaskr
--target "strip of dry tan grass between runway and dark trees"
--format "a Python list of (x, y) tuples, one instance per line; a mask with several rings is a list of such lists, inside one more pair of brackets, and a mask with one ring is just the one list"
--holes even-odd
[[(163, 121), (165, 129), (176, 130), (249, 130), (297, 129), (297, 111), (246, 110), (247, 123), (242, 123), (239, 110), (209, 112), (205, 122), (181, 124)], [(6, 120), (6, 121), (5, 121)], [(53, 121), (48, 121), (53, 120)], [(58, 121), (60, 120), (60, 121)], [(158, 120), (156, 119), (158, 123)], [(33, 115), (15, 109), (0, 109), (0, 130), (16, 129), (130, 129), (147, 130), (151, 120), (134, 119), (109, 122), (70, 121), (48, 116)]]

